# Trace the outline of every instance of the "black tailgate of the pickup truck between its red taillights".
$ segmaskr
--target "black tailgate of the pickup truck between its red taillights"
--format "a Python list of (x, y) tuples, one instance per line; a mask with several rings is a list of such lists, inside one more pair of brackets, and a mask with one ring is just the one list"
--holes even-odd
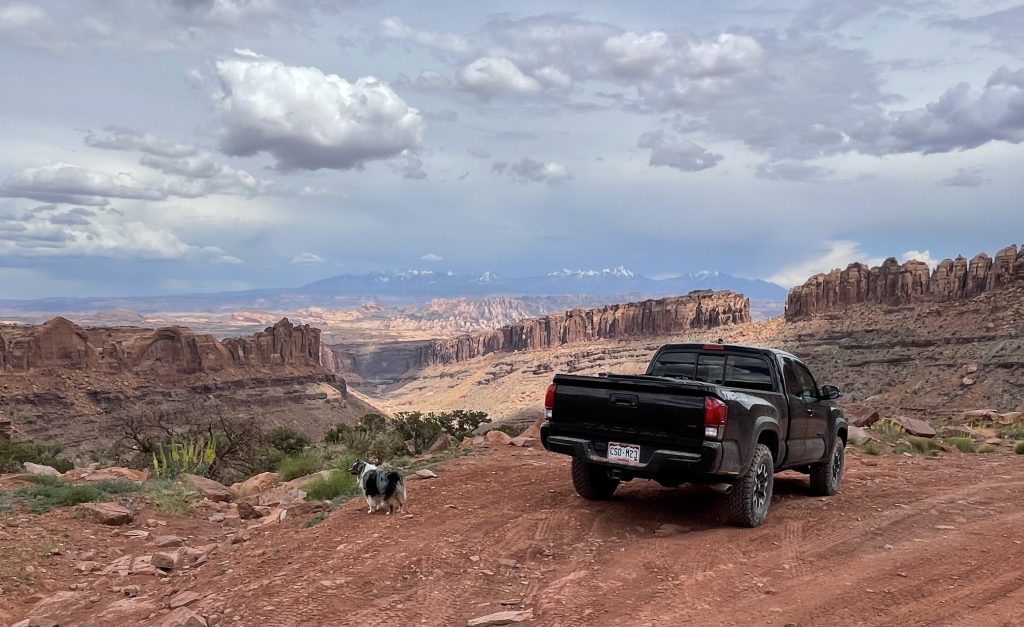
[(702, 383), (664, 377), (558, 375), (551, 432), (699, 452), (709, 392)]

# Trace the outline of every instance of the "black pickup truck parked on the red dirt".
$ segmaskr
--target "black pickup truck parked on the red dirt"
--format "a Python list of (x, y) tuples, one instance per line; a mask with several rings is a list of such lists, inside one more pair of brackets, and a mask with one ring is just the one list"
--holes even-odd
[(544, 448), (572, 456), (572, 485), (608, 499), (620, 482), (714, 484), (743, 527), (764, 522), (774, 473), (811, 475), (814, 494), (843, 479), (847, 421), (788, 352), (732, 344), (667, 344), (643, 375), (556, 375), (545, 398)]

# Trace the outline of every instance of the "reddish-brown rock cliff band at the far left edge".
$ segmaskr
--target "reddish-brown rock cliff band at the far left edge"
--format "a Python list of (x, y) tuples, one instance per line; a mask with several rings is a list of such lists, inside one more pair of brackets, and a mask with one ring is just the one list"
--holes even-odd
[(184, 327), (85, 329), (63, 318), (0, 327), (0, 373), (85, 370), (137, 375), (318, 367), (319, 330), (283, 319), (249, 337), (218, 341)]

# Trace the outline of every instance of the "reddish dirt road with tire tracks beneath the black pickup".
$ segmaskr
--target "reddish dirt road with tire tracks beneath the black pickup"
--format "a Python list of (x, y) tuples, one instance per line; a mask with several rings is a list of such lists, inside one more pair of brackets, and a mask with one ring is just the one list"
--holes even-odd
[[(1024, 621), (1024, 456), (853, 452), (837, 497), (778, 475), (757, 530), (728, 527), (722, 497), (701, 489), (633, 482), (583, 501), (567, 462), (529, 449), (461, 458), (410, 483), (411, 517), (353, 501), (312, 528), (253, 532), (169, 584), (131, 576), (136, 598), (61, 584), (32, 615), (150, 624), (196, 590), (211, 625), (464, 625), (520, 608), (544, 625)], [(681, 529), (655, 534), (663, 524)]]

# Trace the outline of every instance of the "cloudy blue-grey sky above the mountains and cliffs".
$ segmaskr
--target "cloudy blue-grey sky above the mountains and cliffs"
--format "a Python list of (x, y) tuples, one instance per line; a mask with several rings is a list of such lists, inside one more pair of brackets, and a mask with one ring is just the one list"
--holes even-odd
[(994, 252), (1022, 32), (999, 0), (0, 0), (0, 298)]

